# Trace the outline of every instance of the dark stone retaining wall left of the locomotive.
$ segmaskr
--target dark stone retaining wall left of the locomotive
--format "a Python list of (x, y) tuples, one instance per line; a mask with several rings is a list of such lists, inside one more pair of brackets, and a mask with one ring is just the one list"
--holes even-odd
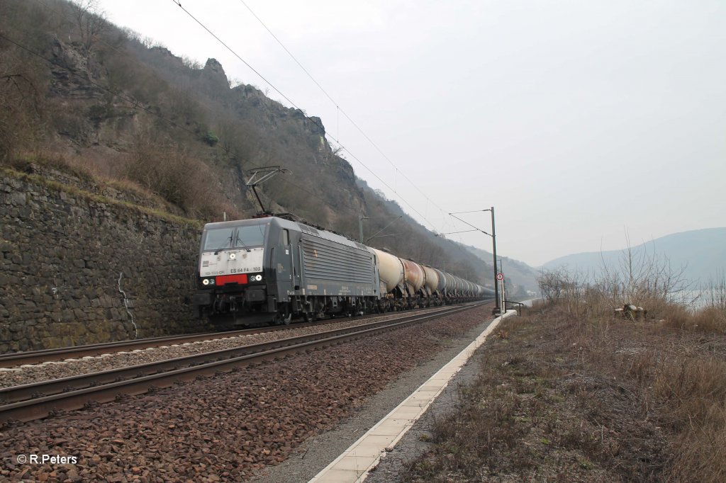
[(191, 305), (201, 228), (0, 170), (0, 353), (208, 329)]

